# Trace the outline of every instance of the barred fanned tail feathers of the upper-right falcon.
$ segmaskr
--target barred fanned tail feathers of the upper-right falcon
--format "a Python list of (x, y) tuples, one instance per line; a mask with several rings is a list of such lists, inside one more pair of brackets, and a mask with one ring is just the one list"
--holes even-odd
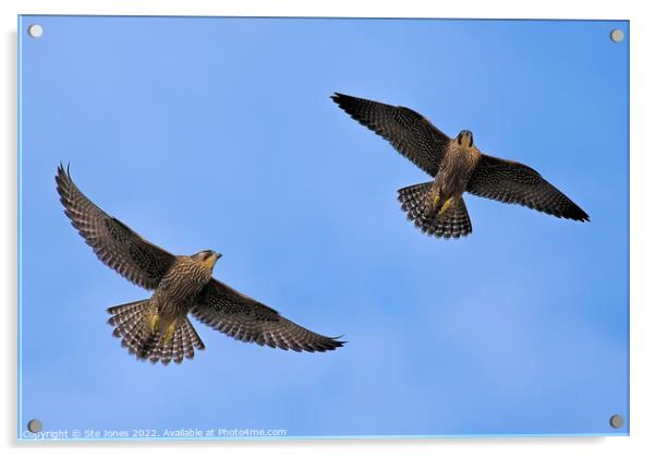
[(460, 238), (472, 232), (472, 223), (462, 196), (444, 212), (430, 201), (433, 182), (410, 185), (399, 190), (401, 209), (415, 227), (437, 238)]

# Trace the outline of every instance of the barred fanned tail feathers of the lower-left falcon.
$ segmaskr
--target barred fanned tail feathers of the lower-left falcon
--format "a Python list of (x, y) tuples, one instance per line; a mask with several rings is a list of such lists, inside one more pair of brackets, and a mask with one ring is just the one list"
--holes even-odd
[(193, 359), (194, 348), (205, 349), (201, 337), (186, 317), (178, 323), (170, 338), (165, 338), (159, 329), (154, 329), (149, 320), (148, 300), (120, 304), (107, 311), (112, 314), (108, 323), (116, 327), (113, 335), (122, 338), (121, 346), (127, 348), (137, 359), (148, 359), (153, 363), (161, 361), (167, 365), (171, 360), (181, 363), (185, 358)]

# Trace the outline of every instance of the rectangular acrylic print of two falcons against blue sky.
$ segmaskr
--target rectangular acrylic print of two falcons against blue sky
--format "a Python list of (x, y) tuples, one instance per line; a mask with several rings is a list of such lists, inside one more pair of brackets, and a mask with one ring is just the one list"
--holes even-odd
[(628, 22), (19, 29), (21, 438), (629, 433)]

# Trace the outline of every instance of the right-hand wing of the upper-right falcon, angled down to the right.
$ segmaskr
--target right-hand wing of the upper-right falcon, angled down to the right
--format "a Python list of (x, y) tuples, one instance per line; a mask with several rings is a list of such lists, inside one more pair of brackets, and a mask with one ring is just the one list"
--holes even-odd
[(517, 161), (483, 154), (467, 192), (503, 203), (518, 203), (556, 217), (590, 220), (590, 216), (537, 171)]

